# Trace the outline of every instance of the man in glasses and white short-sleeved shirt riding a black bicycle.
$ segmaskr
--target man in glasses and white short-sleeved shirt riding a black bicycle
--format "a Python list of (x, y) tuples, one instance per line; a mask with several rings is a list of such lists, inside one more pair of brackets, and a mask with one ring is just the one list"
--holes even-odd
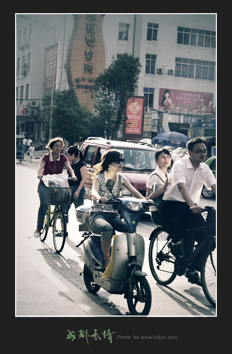
[[(193, 252), (194, 242), (200, 243), (205, 236), (203, 232), (186, 232), (191, 226), (205, 226), (202, 209), (196, 205), (203, 185), (211, 187), (216, 194), (213, 172), (203, 163), (207, 155), (205, 140), (193, 138), (188, 141), (187, 148), (189, 156), (177, 160), (172, 166), (162, 206), (162, 212), (175, 222), (174, 237), (170, 242), (171, 252), (176, 256), (180, 254), (180, 240), (183, 238), (186, 259)], [(186, 276), (190, 283), (201, 285), (197, 269), (190, 269)]]

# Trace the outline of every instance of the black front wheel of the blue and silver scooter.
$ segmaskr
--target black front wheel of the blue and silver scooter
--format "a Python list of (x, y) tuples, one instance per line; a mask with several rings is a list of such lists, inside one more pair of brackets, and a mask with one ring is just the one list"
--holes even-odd
[(128, 292), (127, 304), (132, 316), (147, 316), (151, 308), (151, 289), (145, 277), (132, 280), (133, 290)]

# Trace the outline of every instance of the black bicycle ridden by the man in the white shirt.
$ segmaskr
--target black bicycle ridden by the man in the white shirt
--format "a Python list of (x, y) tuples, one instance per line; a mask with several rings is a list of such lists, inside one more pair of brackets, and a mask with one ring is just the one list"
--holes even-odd
[[(157, 283), (167, 285), (173, 282), (178, 276), (182, 276), (191, 267), (196, 257), (201, 253), (198, 269), (201, 274), (201, 285), (205, 297), (216, 306), (216, 210), (213, 207), (206, 206), (202, 212), (208, 212), (206, 217), (206, 227), (191, 227), (188, 231), (204, 229), (206, 237), (200, 243), (195, 245), (194, 252), (189, 259), (185, 259), (183, 242), (181, 240), (180, 255), (175, 257), (171, 254), (168, 245), (172, 238), (172, 231), (169, 226), (157, 226), (150, 235), (149, 245), (149, 266), (153, 278)], [(213, 220), (213, 221), (212, 221)], [(170, 224), (171, 225), (171, 224)]]

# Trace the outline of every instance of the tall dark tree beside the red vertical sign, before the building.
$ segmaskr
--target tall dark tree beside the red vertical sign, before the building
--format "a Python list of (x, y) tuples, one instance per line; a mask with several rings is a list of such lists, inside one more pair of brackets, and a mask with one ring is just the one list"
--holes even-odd
[(110, 128), (112, 139), (117, 140), (127, 101), (134, 95), (142, 65), (139, 58), (128, 53), (112, 59), (95, 80), (94, 90), (98, 93), (95, 108), (105, 120), (105, 130)]

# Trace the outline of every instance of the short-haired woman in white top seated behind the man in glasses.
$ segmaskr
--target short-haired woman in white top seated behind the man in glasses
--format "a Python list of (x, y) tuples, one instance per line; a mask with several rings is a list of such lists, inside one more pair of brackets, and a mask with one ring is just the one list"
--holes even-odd
[[(153, 200), (155, 204), (160, 204), (162, 201), (163, 194), (167, 188), (168, 183), (168, 173), (167, 168), (171, 164), (171, 155), (167, 149), (159, 149), (155, 152), (155, 163), (156, 169), (149, 175), (146, 182), (148, 198), (151, 194), (151, 189), (153, 184), (156, 184), (155, 193), (150, 196), (149, 199)], [(157, 206), (150, 206), (151, 219), (156, 225), (166, 225), (166, 217), (161, 214), (157, 209)]]

